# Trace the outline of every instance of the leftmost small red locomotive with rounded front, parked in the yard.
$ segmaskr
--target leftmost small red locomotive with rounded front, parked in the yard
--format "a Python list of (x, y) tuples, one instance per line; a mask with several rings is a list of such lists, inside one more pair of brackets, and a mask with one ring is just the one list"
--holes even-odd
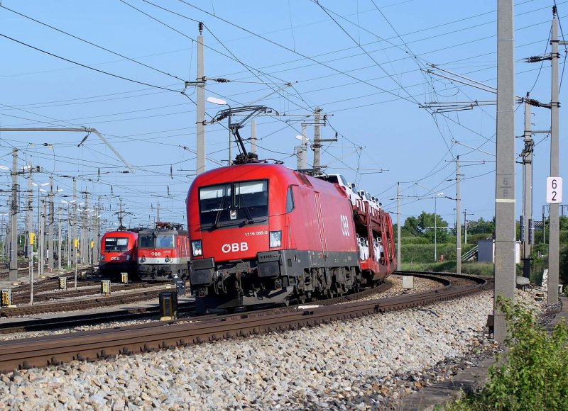
[(119, 278), (121, 273), (136, 277), (138, 262), (138, 234), (119, 230), (104, 233), (101, 240), (99, 273), (102, 276)]

